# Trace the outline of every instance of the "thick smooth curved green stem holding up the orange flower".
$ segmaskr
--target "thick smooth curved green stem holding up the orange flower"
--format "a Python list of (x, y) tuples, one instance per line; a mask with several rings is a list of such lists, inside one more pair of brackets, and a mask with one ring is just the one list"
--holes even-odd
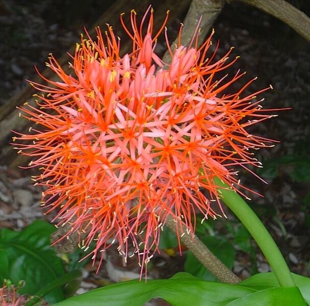
[(258, 247), (267, 258), (269, 265), (278, 279), (279, 285), (281, 287), (295, 287), (296, 285), (289, 267), (287, 267), (279, 248), (254, 211), (238, 193), (223, 181), (215, 178), (215, 183), (219, 187), (218, 192), (223, 202), (247, 228)]

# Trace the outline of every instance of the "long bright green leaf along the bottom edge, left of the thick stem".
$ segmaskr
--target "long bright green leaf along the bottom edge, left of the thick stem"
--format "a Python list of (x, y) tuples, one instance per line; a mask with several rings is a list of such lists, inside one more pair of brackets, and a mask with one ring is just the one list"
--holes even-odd
[(55, 306), (142, 306), (154, 297), (161, 297), (175, 306), (214, 306), (225, 305), (254, 292), (250, 288), (205, 281), (187, 273), (178, 273), (170, 279), (116, 283), (63, 300)]

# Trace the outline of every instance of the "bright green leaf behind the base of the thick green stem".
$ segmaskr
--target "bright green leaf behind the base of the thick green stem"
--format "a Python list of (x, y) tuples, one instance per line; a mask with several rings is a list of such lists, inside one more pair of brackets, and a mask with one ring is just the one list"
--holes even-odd
[[(291, 273), (296, 286), (299, 288), (303, 298), (310, 305), (310, 278)], [(278, 287), (279, 283), (273, 272), (259, 273), (239, 282), (239, 285), (263, 290), (270, 287)]]

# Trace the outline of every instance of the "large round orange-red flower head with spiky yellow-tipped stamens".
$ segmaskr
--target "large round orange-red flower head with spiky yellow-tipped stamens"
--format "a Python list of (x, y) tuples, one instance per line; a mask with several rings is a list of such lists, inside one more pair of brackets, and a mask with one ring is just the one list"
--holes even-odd
[(216, 79), (236, 59), (228, 63), (229, 50), (214, 60), (217, 47), (207, 58), (213, 33), (200, 48), (197, 33), (188, 47), (179, 39), (175, 51), (166, 35), (170, 64), (154, 53), (167, 17), (153, 34), (151, 9), (139, 26), (131, 12), (131, 30), (121, 16), (132, 40), (124, 56), (110, 26), (104, 36), (97, 28), (96, 41), (82, 36), (69, 75), (51, 55), (47, 65), (59, 80), (41, 76), (49, 85), (32, 83), (45, 93), (36, 96), (39, 107), (20, 108), (39, 126), (14, 140), (26, 141), (17, 148), (36, 158), (29, 166), (41, 170), (42, 205), (57, 210), (58, 225), (70, 224), (68, 235), (87, 232), (82, 248), (96, 240), (93, 258), (117, 241), (122, 255), (133, 246), (147, 264), (168, 215), (193, 233), (197, 211), (219, 215), (213, 201), (224, 214), (214, 177), (241, 186), (234, 167), (259, 166), (252, 149), (271, 144), (246, 130), (272, 117), (255, 100), (264, 90), (242, 97), (251, 80), (231, 93), (239, 72)]

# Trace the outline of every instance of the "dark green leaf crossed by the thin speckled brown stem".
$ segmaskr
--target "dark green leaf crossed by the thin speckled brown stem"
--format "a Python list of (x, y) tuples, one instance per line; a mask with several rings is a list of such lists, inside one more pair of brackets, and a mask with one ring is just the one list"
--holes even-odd
[[(236, 252), (230, 242), (223, 238), (211, 236), (204, 237), (201, 240), (227, 268), (232, 269)], [(205, 280), (216, 279), (191, 252), (186, 255), (184, 271)]]

